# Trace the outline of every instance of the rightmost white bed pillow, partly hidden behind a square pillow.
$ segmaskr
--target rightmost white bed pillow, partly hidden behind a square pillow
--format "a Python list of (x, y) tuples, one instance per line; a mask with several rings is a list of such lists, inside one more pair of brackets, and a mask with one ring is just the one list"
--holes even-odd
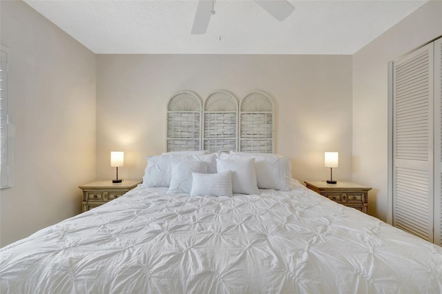
[[(278, 155), (279, 156), (279, 155)], [(220, 159), (255, 159), (256, 182), (258, 188), (290, 190), (291, 189), (291, 166), (288, 157), (278, 156), (253, 156), (253, 155), (221, 155)]]

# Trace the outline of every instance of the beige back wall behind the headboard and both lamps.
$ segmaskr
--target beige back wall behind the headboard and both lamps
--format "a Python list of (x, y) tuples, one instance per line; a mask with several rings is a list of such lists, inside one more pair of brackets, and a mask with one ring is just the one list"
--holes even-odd
[(273, 97), (276, 152), (293, 175), (327, 179), (324, 151), (340, 152), (336, 179), (352, 178), (352, 57), (349, 55), (97, 55), (97, 178), (115, 177), (111, 150), (125, 152), (119, 175), (141, 179), (146, 155), (165, 150), (166, 104), (177, 91), (204, 100), (214, 90), (241, 99)]

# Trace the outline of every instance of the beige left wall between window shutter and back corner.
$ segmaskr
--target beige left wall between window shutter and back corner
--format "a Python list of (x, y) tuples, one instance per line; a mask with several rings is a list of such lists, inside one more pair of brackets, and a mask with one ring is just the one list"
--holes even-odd
[(95, 55), (21, 1), (0, 1), (12, 51), (14, 186), (0, 190), (5, 246), (81, 211), (95, 178)]

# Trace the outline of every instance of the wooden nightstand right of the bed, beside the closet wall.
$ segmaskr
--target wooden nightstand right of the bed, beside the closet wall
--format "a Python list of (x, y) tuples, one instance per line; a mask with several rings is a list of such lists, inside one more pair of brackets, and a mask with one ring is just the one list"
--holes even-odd
[(368, 191), (372, 188), (352, 182), (327, 184), (325, 181), (305, 182), (305, 186), (332, 199), (334, 202), (356, 208), (368, 214)]

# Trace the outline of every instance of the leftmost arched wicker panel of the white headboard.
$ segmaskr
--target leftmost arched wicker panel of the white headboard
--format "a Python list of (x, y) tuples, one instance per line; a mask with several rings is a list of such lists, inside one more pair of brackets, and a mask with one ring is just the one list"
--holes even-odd
[(202, 103), (191, 91), (177, 92), (167, 104), (167, 151), (200, 150)]

